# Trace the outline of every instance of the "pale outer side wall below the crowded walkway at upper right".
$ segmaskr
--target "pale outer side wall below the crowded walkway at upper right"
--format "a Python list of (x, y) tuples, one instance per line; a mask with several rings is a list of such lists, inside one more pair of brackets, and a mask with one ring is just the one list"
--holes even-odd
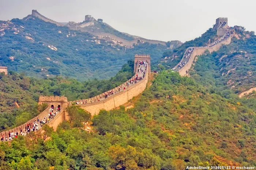
[(188, 63), (182, 67), (178, 72), (181, 76), (184, 76), (187, 74), (188, 70), (191, 68), (193, 61), (195, 60), (196, 56), (202, 55), (204, 51), (209, 50), (210, 52), (219, 50), (223, 45), (230, 44), (231, 42), (231, 36), (229, 36), (226, 40), (223, 40), (221, 43), (216, 44), (212, 47), (202, 47), (202, 48), (196, 48), (192, 54), (191, 58), (188, 60)]

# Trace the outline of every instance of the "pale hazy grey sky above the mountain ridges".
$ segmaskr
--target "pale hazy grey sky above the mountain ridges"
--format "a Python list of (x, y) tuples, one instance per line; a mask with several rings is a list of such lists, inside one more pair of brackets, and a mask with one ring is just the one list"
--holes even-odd
[(118, 31), (156, 40), (194, 39), (228, 17), (228, 25), (256, 31), (253, 0), (0, 0), (0, 20), (22, 19), (37, 9), (58, 22), (101, 18)]

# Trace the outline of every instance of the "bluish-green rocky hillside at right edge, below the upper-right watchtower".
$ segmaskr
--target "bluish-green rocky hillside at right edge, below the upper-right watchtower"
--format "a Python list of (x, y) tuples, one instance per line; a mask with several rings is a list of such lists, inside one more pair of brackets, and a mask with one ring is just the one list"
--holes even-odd
[(226, 95), (233, 92), (241, 94), (256, 87), (256, 36), (244, 28), (231, 32), (231, 44), (200, 56), (190, 72), (195, 80), (213, 91), (225, 91)]

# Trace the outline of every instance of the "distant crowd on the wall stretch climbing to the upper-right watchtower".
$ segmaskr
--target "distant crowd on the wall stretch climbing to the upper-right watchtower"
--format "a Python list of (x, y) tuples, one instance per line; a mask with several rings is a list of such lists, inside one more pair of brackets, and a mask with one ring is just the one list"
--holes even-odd
[[(223, 27), (225, 24), (226, 24), (226, 22), (223, 22), (221, 27)], [(216, 44), (220, 43), (221, 41), (227, 39), (230, 36), (229, 29), (230, 29), (230, 27), (225, 28), (225, 35), (223, 37), (215, 40), (213, 43), (210, 43), (208, 46), (205, 46), (203, 48), (209, 48), (209, 47), (215, 46)], [(178, 63), (177, 66), (175, 66), (173, 68), (173, 70), (179, 71), (182, 67), (184, 67), (187, 64), (188, 60), (190, 59), (195, 48), (201, 48), (201, 47), (188, 47), (181, 62)]]

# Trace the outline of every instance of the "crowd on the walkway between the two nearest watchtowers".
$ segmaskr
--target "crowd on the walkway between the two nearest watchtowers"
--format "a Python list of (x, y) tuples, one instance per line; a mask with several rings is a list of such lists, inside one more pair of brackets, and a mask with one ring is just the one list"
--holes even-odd
[[(106, 99), (109, 96), (114, 95), (122, 90), (125, 90), (127, 87), (131, 86), (132, 84), (137, 83), (137, 80), (142, 80), (144, 78), (146, 71), (147, 71), (147, 65), (148, 65), (148, 62), (139, 61), (139, 67), (137, 70), (138, 72), (136, 72), (136, 76), (134, 78), (130, 79), (125, 84), (121, 84), (120, 86), (117, 87), (117, 89), (112, 89), (110, 91), (104, 92), (103, 94), (99, 95), (99, 97), (97, 96), (94, 99), (85, 99), (82, 101), (79, 100), (79, 101), (75, 102), (75, 104), (86, 104), (86, 103), (97, 102), (99, 100)], [(72, 102), (69, 102), (68, 105), (69, 106), (72, 105)]]

